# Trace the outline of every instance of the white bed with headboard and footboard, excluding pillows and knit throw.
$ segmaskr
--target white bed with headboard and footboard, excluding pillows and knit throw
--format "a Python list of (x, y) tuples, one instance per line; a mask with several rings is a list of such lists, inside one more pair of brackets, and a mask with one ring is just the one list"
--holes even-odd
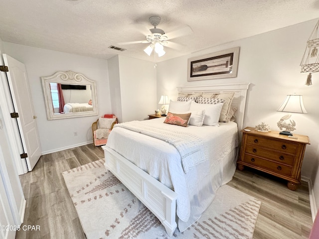
[(103, 146), (105, 167), (160, 219), (169, 236), (177, 227), (176, 221), (179, 230), (184, 231), (198, 220), (218, 187), (232, 179), (248, 86), (246, 83), (178, 88), (179, 92), (235, 92), (232, 106), (238, 108), (237, 123), (180, 127), (164, 124), (163, 118), (140, 122), (146, 127), (182, 130), (202, 140), (202, 158), (207, 160), (188, 169), (172, 144), (120, 126), (112, 130)]

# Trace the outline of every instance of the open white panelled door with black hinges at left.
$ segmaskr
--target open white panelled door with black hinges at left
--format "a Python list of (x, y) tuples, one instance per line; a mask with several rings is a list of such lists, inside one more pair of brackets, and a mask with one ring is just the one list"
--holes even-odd
[(26, 163), (28, 170), (31, 171), (41, 156), (41, 146), (26, 69), (23, 63), (6, 54), (3, 54), (3, 61), (5, 66), (8, 67), (6, 75), (14, 110), (19, 115), (16, 120), (19, 126), (23, 149), (27, 153)]

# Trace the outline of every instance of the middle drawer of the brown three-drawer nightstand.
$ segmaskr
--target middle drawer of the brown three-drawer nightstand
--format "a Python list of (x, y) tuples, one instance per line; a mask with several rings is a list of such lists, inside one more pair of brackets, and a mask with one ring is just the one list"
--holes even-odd
[(246, 145), (245, 153), (251, 154), (256, 157), (267, 158), (290, 166), (294, 165), (295, 155), (285, 154), (273, 150), (268, 150), (253, 145)]

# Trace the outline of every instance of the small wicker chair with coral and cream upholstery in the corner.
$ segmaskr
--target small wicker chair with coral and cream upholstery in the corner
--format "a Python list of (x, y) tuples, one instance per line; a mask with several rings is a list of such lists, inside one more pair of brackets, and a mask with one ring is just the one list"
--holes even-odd
[(109, 133), (118, 123), (114, 115), (104, 115), (92, 123), (93, 142), (95, 146), (105, 145), (108, 141)]

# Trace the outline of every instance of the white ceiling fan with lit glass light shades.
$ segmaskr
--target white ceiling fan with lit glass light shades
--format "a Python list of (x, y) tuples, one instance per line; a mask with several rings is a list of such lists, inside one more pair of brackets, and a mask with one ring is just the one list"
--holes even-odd
[(144, 52), (151, 56), (153, 50), (158, 54), (159, 57), (165, 54), (164, 46), (179, 48), (177, 43), (169, 41), (170, 39), (180, 37), (192, 33), (192, 29), (186, 25), (185, 27), (178, 28), (170, 33), (165, 33), (162, 29), (157, 28), (160, 24), (161, 18), (159, 16), (151, 16), (149, 18), (150, 23), (154, 26), (150, 31), (152, 34), (146, 36), (144, 41), (134, 41), (134, 42), (123, 42), (122, 44), (132, 44), (132, 43), (150, 43), (150, 45), (144, 49)]

